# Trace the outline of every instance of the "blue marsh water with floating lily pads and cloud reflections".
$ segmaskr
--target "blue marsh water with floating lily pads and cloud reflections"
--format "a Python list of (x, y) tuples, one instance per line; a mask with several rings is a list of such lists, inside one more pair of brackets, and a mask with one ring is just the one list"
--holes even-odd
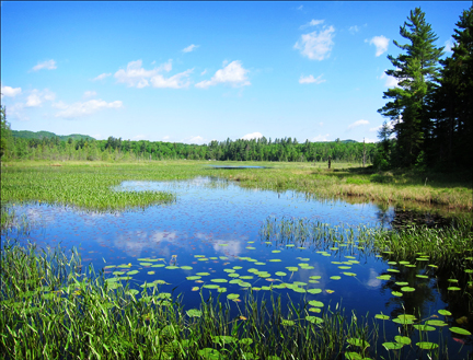
[[(253, 291), (259, 298), (281, 297), (284, 304), (316, 300), (322, 310), (338, 304), (348, 316), (353, 311), (360, 317), (384, 314), (395, 318), (408, 313), (471, 330), (471, 300), (460, 291), (447, 291), (452, 274), (443, 276), (428, 267), (428, 262), (404, 267), (388, 264), (389, 258), (366, 253), (362, 246), (321, 248), (264, 236), (268, 223), (284, 219), (305, 219), (334, 229), (390, 227), (396, 217), (393, 208), (321, 201), (296, 191), (245, 189), (210, 177), (125, 182), (116, 190), (171, 191), (176, 201), (115, 213), (39, 204), (15, 206), (16, 214), (24, 214), (33, 224), (27, 234), (19, 235), (21, 242), (77, 247), (84, 271), (88, 265), (95, 271), (104, 269), (106, 278), (132, 271), (132, 288), (157, 283), (161, 292), (182, 294), (186, 309), (198, 307), (201, 297), (207, 299), (209, 293), (235, 306), (229, 294), (240, 294), (243, 300)], [(399, 295), (402, 286), (396, 282), (414, 290)], [(451, 315), (440, 315), (442, 310)], [(379, 322), (394, 341), (399, 324)], [(448, 327), (441, 334), (430, 332), (428, 341), (447, 341), (460, 358), (472, 350), (471, 337), (450, 333)], [(413, 334), (414, 344), (419, 341), (416, 336)]]

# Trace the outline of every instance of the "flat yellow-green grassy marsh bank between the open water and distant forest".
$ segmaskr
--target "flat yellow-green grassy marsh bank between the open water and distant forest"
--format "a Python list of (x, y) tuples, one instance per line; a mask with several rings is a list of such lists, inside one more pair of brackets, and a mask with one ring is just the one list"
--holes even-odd
[[(265, 170), (212, 169), (211, 165), (259, 165)], [(2, 163), (2, 201), (42, 201), (90, 209), (123, 209), (170, 201), (158, 193), (115, 193), (111, 187), (127, 179), (171, 181), (195, 176), (218, 176), (241, 186), (272, 190), (293, 189), (323, 199), (406, 202), (422, 207), (471, 211), (473, 187), (470, 174), (370, 173), (357, 164), (162, 161), (139, 163), (104, 162), (11, 162)], [(355, 200), (354, 200), (355, 199)]]

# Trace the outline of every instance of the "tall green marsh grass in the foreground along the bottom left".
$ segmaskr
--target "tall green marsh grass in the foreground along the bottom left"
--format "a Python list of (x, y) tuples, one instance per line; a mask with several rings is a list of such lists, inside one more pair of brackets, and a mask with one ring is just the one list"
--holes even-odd
[[(93, 269), (84, 277), (73, 251), (8, 242), (1, 262), (4, 359), (376, 359), (384, 351), (379, 320), (338, 304), (313, 316), (305, 299), (284, 309), (273, 294), (233, 302), (201, 293), (199, 309), (185, 310), (181, 295), (157, 287), (109, 287)], [(415, 350), (383, 353), (404, 359)]]

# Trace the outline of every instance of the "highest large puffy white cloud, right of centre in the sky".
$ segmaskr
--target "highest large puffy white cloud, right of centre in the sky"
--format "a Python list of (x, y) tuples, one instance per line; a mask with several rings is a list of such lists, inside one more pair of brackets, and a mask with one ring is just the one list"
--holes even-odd
[(323, 60), (330, 56), (334, 45), (334, 33), (335, 28), (333, 26), (324, 26), (324, 30), (320, 32), (302, 34), (300, 40), (293, 47), (301, 50), (301, 54), (311, 60)]

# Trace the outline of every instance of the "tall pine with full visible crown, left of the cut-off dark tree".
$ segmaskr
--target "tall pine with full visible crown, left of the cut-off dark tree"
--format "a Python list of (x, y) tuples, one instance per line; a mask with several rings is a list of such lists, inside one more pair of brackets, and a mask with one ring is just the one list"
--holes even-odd
[(394, 45), (405, 50), (397, 57), (388, 59), (395, 69), (387, 70), (388, 76), (397, 80), (397, 86), (384, 92), (383, 98), (393, 98), (378, 112), (391, 119), (396, 137), (396, 160), (400, 166), (411, 166), (422, 158), (426, 138), (430, 137), (431, 124), (427, 113), (426, 100), (438, 81), (438, 61), (442, 47), (434, 43), (438, 39), (430, 24), (425, 21), (420, 8), (411, 11), (407, 21), (400, 28), (402, 37), (411, 44)]

